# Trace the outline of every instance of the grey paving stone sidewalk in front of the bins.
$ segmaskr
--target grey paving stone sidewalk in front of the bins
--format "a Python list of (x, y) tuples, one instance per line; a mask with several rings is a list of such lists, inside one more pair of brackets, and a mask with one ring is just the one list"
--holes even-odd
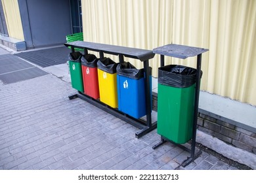
[(160, 141), (81, 100), (51, 74), (0, 89), (0, 169), (236, 169), (203, 152), (181, 167), (188, 152)]

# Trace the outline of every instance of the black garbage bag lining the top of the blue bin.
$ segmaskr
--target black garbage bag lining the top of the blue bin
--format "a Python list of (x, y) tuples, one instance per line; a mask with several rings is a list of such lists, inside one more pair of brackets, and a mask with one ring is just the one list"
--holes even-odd
[[(134, 65), (129, 62), (119, 63), (116, 67), (117, 75), (126, 76), (138, 80), (144, 77), (144, 69), (136, 69)], [(150, 75), (152, 68), (150, 67)]]

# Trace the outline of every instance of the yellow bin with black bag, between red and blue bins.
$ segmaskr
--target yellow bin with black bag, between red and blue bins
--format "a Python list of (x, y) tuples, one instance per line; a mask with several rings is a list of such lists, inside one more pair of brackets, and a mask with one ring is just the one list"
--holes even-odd
[(112, 108), (117, 108), (117, 63), (110, 58), (101, 58), (97, 63), (97, 67), (100, 101)]

